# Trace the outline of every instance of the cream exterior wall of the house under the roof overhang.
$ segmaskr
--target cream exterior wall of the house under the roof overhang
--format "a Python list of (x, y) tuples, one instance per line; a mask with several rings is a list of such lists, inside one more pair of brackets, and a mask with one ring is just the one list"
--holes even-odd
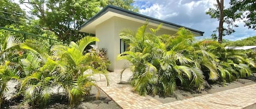
[[(109, 70), (118, 72), (124, 68), (126, 60), (117, 61), (120, 54), (120, 32), (125, 29), (136, 31), (144, 23), (130, 21), (120, 17), (112, 17), (96, 26), (96, 37), (100, 40), (96, 42), (96, 47), (106, 48), (107, 56), (111, 62)], [(157, 28), (149, 26), (150, 28)], [(147, 30), (149, 31), (149, 29)], [(175, 31), (160, 29), (158, 34), (174, 34)]]

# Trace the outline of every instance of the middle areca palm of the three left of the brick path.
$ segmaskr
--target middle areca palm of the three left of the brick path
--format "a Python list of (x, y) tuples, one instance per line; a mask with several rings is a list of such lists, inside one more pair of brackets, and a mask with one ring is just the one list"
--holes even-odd
[[(28, 43), (22, 43), (24, 48)], [(20, 91), (23, 94), (23, 102), (28, 102), (32, 106), (44, 106), (51, 98), (55, 77), (51, 73), (41, 70), (44, 64), (41, 56), (34, 53), (27, 53), (26, 59), (21, 59), (21, 78)]]

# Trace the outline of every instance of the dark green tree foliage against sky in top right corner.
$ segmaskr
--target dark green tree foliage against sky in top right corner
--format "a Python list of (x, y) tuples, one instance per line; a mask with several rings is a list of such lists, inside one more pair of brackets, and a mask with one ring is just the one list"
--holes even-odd
[[(223, 19), (226, 27), (223, 27), (223, 36), (230, 35), (235, 32), (234, 27), (238, 27), (234, 22), (242, 20), (245, 22), (245, 26), (251, 29), (256, 29), (256, 1), (254, 0), (230, 0), (230, 7), (223, 9)], [(216, 4), (216, 8), (210, 8), (206, 14), (211, 18), (220, 19), (219, 7)], [(218, 27), (217, 27), (218, 29)], [(215, 34), (218, 30), (214, 30), (212, 34), (213, 39), (217, 39)]]

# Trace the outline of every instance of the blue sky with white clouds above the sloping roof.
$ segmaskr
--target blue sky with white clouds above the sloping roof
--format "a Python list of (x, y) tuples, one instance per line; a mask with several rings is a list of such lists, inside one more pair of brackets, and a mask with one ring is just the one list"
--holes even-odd
[[(168, 21), (204, 31), (201, 39), (210, 38), (212, 31), (218, 27), (218, 20), (210, 18), (205, 12), (209, 8), (214, 8), (215, 0), (134, 0), (134, 6), (139, 8), (139, 13), (160, 20)], [(229, 0), (224, 2), (225, 7), (229, 7)], [(242, 21), (236, 21), (239, 25), (235, 28), (235, 33), (224, 36), (223, 39), (231, 41), (245, 39), (256, 36), (256, 30), (244, 27)]]

